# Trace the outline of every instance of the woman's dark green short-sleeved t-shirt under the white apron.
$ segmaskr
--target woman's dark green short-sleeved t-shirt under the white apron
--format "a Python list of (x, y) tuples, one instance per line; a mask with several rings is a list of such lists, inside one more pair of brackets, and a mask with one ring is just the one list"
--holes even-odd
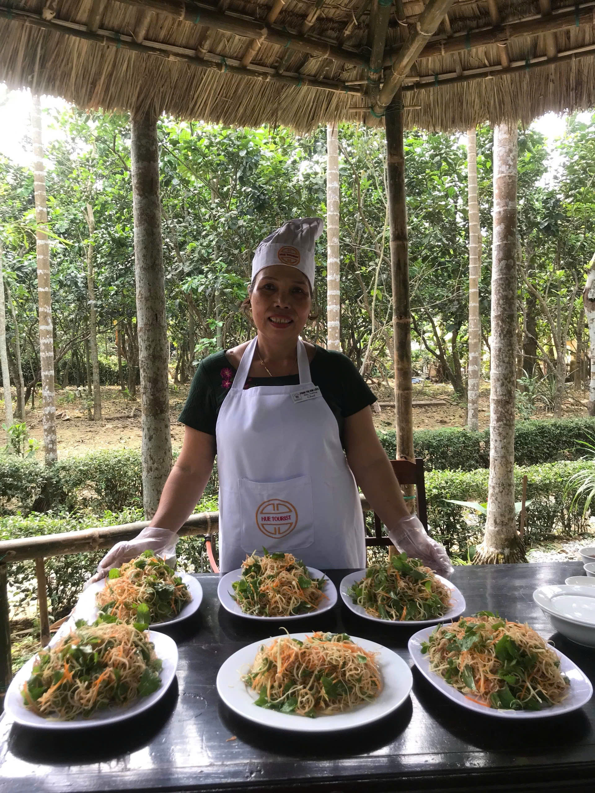
[[(313, 384), (321, 389), (324, 400), (339, 424), (343, 442), (344, 420), (373, 404), (376, 397), (343, 353), (316, 347), (310, 362), (310, 374)], [(236, 370), (228, 362), (225, 351), (213, 353), (201, 361), (178, 421), (194, 430), (215, 435), (219, 408), (235, 376)], [(298, 385), (299, 381), (298, 374), (286, 377), (248, 377), (244, 388), (254, 385)]]

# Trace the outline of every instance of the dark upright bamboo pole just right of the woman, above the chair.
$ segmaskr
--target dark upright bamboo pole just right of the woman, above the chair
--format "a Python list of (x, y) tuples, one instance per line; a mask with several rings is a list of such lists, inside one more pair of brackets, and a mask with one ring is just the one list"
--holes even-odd
[(398, 90), (386, 109), (386, 174), (390, 220), (390, 274), (393, 285), (394, 402), (397, 458), (414, 459), (411, 385), (411, 308), (405, 205), (403, 102)]

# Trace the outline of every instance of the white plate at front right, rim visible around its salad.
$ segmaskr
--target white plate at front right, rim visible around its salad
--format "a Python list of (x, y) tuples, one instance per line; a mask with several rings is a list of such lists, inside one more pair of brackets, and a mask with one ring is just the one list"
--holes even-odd
[(544, 708), (543, 711), (501, 711), (497, 707), (486, 707), (485, 705), (472, 702), (470, 699), (467, 699), (461, 691), (457, 691), (456, 688), (448, 684), (446, 680), (443, 680), (440, 675), (436, 675), (435, 672), (430, 672), (430, 659), (427, 654), (422, 655), (421, 642), (428, 641), (428, 637), (432, 633), (432, 630), (435, 630), (435, 628), (430, 627), (418, 630), (417, 634), (413, 634), (409, 639), (408, 648), (413, 658), (413, 663), (426, 680), (429, 680), (435, 688), (442, 691), (448, 699), (451, 699), (453, 702), (457, 703), (457, 705), (466, 707), (468, 711), (474, 711), (475, 713), (482, 713), (488, 716), (497, 716), (499, 718), (548, 718), (550, 716), (560, 716), (563, 713), (576, 711), (577, 708), (582, 707), (591, 699), (593, 686), (589, 678), (573, 661), (570, 661), (570, 658), (567, 658), (565, 655), (562, 655), (559, 650), (555, 649), (555, 653), (557, 653), (560, 658), (560, 671), (564, 672), (570, 680), (570, 693), (559, 705), (552, 705), (551, 707)]

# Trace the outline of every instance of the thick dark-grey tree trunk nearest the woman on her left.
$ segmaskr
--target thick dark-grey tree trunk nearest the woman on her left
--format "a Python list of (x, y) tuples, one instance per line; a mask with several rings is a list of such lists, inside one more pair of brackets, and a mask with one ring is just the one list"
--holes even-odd
[(167, 316), (155, 113), (132, 114), (131, 153), (143, 503), (145, 514), (151, 519), (171, 469)]

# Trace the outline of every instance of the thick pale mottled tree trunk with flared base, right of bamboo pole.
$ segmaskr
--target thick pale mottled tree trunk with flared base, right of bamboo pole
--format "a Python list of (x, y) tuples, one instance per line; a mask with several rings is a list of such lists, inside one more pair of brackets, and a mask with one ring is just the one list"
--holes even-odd
[(493, 140), (492, 375), (486, 533), (474, 564), (525, 561), (514, 514), (516, 386), (516, 126)]

